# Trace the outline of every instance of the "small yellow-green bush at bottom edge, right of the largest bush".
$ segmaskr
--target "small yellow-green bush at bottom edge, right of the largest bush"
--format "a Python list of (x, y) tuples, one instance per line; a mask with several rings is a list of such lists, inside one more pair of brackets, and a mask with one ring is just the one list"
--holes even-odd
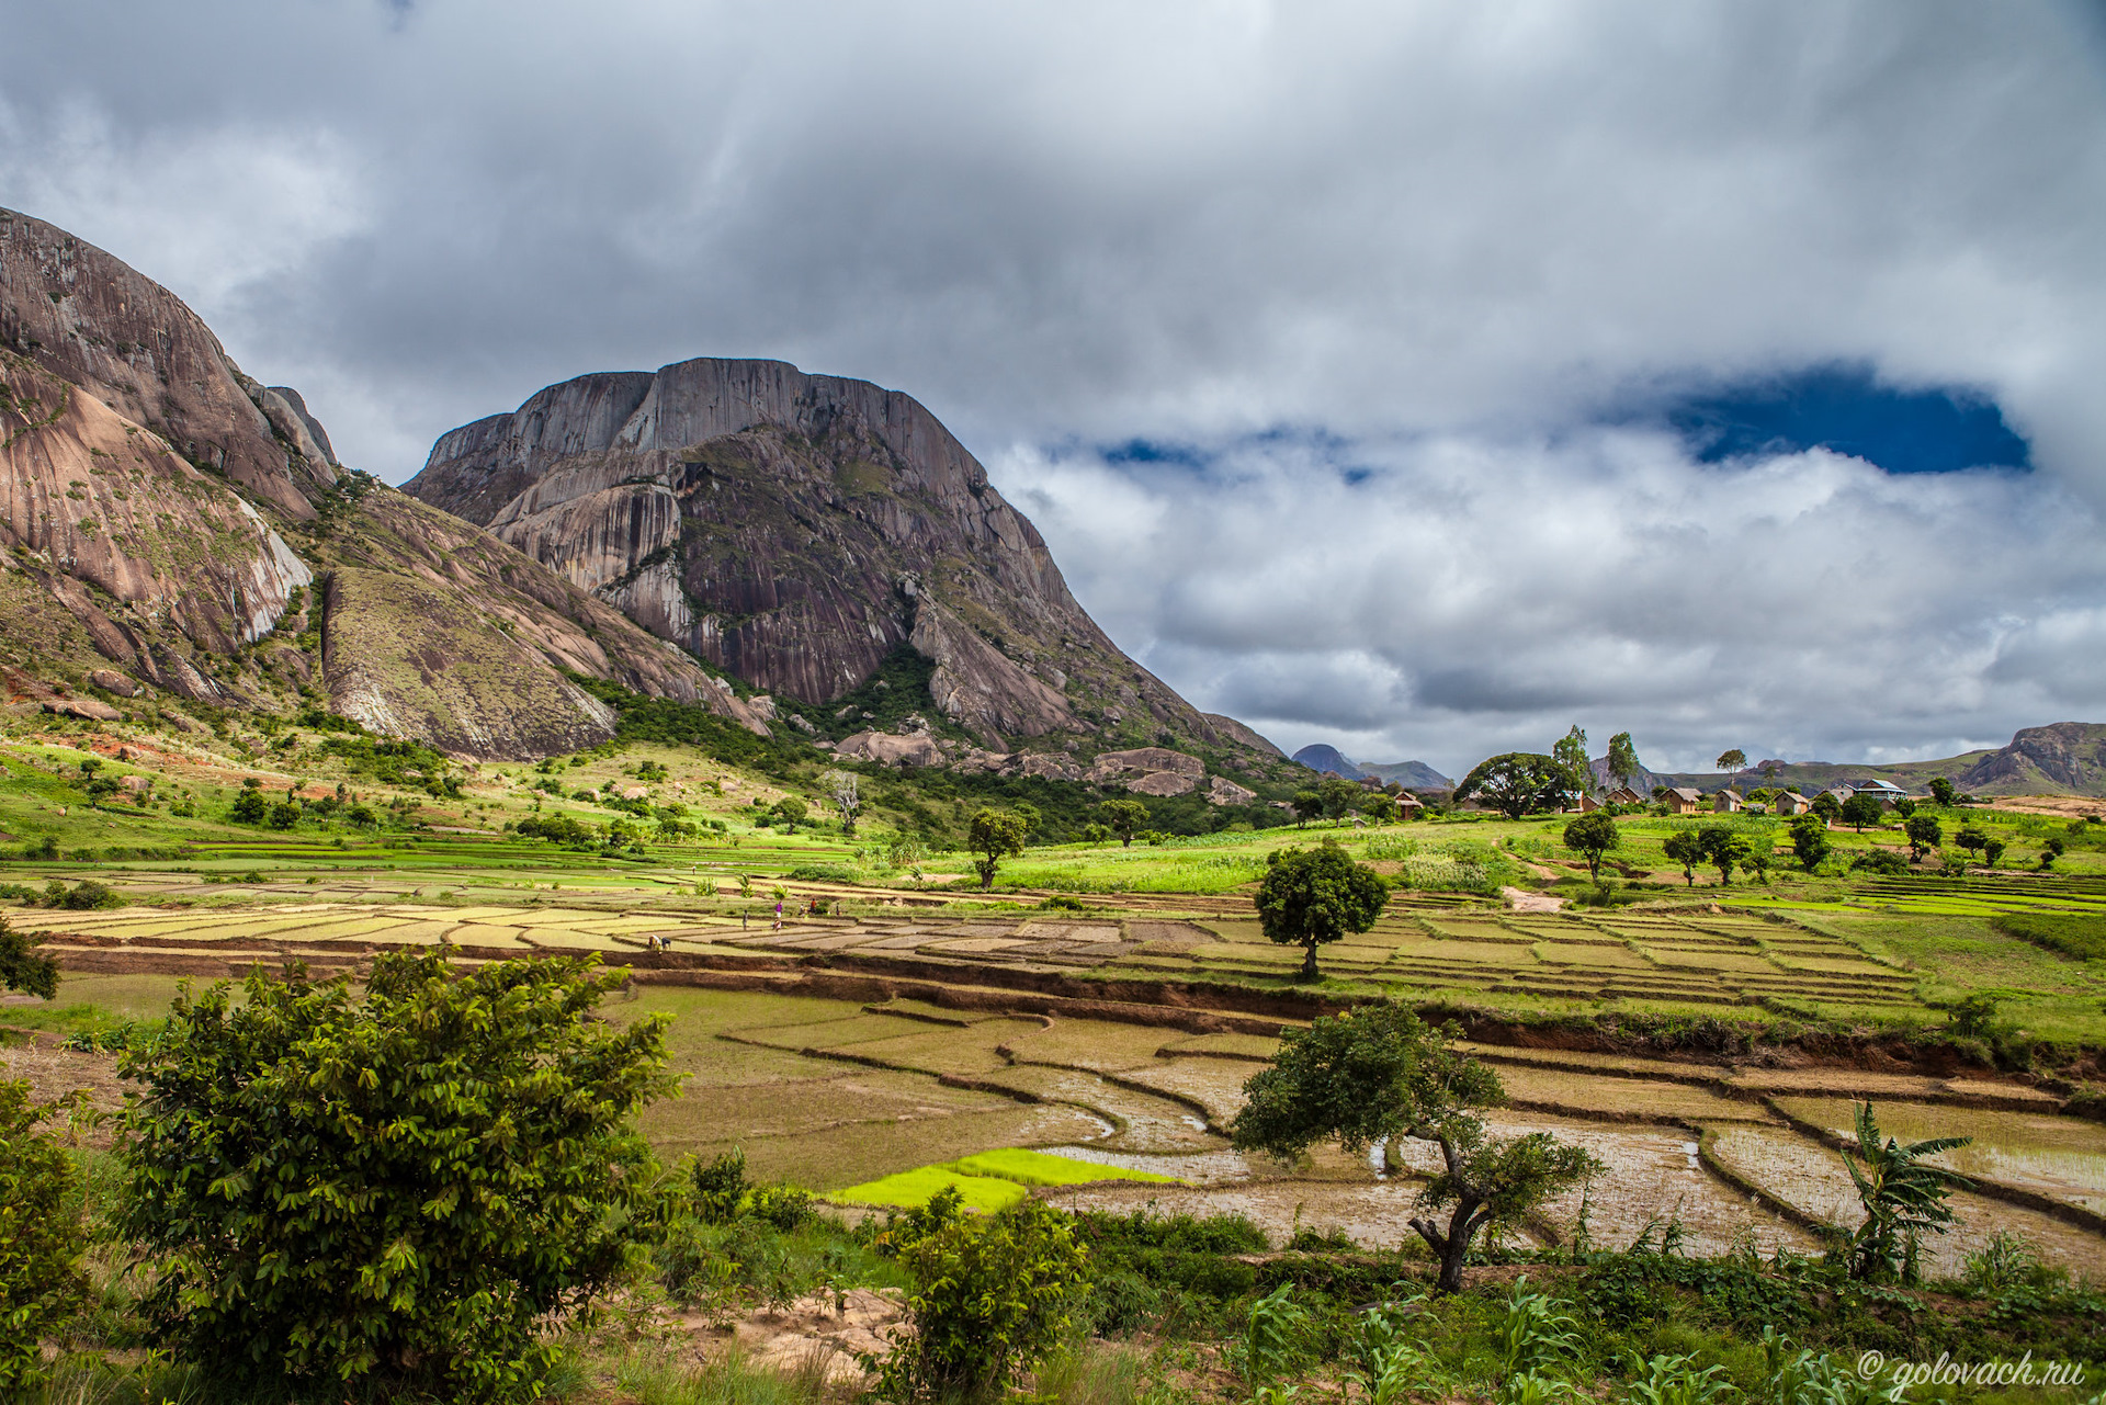
[(895, 1405), (1000, 1399), (1068, 1333), (1089, 1258), (1045, 1201), (929, 1220), (935, 1228), (910, 1224), (899, 1249), (914, 1331), (878, 1367), (874, 1394)]

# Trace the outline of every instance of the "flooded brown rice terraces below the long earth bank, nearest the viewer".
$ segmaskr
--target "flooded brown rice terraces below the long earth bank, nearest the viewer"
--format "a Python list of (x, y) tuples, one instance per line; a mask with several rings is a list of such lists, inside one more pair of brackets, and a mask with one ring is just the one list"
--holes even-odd
[[(67, 1028), (57, 1013), (76, 1011), (80, 1024), (84, 1007), (152, 1017), (175, 988), (168, 975), (67, 975), (46, 1011), (15, 1005), (0, 1020)], [(1072, 1207), (1238, 1211), (1274, 1243), (1312, 1228), (1396, 1247), (1409, 1243), (1411, 1201), (1432, 1171), (1430, 1148), (1413, 1142), (1369, 1159), (1320, 1150), (1299, 1165), (1234, 1152), (1224, 1127), (1245, 1079), (1276, 1049), (1259, 1034), (651, 982), (609, 996), (604, 1013), (670, 1017), (682, 1087), (642, 1121), (661, 1154), (739, 1148), (750, 1173), (809, 1186), (849, 1211), (958, 1184), (990, 1207), (1032, 1192)], [(2106, 1277), (2106, 1125), (2062, 1116), (2049, 1097), (2037, 1110), (1992, 1110), (1980, 1106), (1980, 1079), (1472, 1051), (1510, 1097), (1491, 1116), (1495, 1131), (1552, 1131), (1607, 1167), (1531, 1218), (1523, 1241), (1586, 1234), (1624, 1247), (1674, 1226), (1700, 1253), (1815, 1251), (1820, 1224), (1853, 1224), (1832, 1140), (1849, 1127), (1851, 1100), (1872, 1097), (1883, 1127), (1904, 1140), (1973, 1137), (1946, 1156), (1975, 1186), (1954, 1201), (1963, 1226), (1931, 1247), (1938, 1268), (1956, 1270), (2001, 1228), (2047, 1262)], [(0, 1076), (32, 1055), (48, 1057), (0, 1047)], [(1002, 1156), (1074, 1169), (1021, 1175), (1000, 1169)]]

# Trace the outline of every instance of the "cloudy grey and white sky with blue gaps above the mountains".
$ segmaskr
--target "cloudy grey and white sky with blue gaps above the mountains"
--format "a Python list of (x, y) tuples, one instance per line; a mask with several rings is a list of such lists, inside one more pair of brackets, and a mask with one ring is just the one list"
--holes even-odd
[(2106, 720), (2106, 6), (67, 0), (0, 204), (400, 482), (545, 383), (929, 404), (1114, 640), (1449, 775)]

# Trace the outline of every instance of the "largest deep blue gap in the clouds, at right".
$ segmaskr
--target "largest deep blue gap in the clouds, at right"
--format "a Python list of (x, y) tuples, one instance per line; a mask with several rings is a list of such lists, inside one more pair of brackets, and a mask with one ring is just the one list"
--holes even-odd
[(1895, 390), (1866, 367), (1815, 367), (1687, 396), (1666, 419), (1697, 459), (1832, 449), (1891, 474), (2032, 468), (1994, 400), (1967, 390)]

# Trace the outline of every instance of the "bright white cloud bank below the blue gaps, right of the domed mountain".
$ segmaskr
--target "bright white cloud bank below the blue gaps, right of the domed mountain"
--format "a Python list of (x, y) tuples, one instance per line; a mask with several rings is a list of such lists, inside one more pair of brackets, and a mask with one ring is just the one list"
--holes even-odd
[(1950, 754), (2106, 682), (2106, 611), (2062, 605), (2106, 594), (2100, 522), (2041, 476), (1704, 466), (1628, 430), (1215, 453), (996, 480), (1114, 636), (1287, 746), (1459, 773), (1580, 723), (1660, 767)]

